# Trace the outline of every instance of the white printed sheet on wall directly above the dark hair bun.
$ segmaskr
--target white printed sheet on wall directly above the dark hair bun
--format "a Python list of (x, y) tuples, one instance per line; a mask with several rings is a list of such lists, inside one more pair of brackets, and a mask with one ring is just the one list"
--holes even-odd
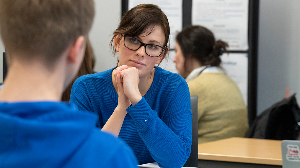
[(202, 25), (228, 50), (248, 50), (248, 0), (192, 0), (192, 25)]

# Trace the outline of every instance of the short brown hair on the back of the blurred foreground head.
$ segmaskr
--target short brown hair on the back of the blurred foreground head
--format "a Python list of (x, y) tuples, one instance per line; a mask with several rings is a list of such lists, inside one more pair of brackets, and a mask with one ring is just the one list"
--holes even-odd
[(70, 43), (87, 36), (93, 0), (1, 0), (0, 33), (8, 54), (51, 65)]

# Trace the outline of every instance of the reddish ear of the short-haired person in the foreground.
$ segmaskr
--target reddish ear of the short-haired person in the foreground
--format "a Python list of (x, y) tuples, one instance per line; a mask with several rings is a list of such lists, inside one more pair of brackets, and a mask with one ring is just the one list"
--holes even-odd
[(82, 61), (82, 57), (85, 51), (85, 40), (83, 36), (76, 39), (75, 43), (70, 46), (70, 52), (68, 54), (67, 60), (70, 63), (76, 63)]

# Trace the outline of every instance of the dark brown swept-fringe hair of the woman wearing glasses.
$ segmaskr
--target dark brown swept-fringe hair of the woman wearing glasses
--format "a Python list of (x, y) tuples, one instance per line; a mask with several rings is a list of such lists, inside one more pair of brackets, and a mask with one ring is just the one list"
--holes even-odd
[[(137, 37), (146, 31), (146, 28), (154, 28), (156, 25), (161, 26), (165, 34), (165, 44), (168, 48), (170, 25), (167, 16), (160, 7), (154, 4), (139, 4), (131, 8), (122, 17), (119, 27), (113, 32), (113, 38), (110, 41), (110, 46), (113, 53), (116, 54), (116, 49), (113, 46), (114, 38), (119, 34), (127, 34), (132, 37)], [(164, 56), (167, 54), (165, 52)], [(163, 60), (163, 59), (162, 59)]]

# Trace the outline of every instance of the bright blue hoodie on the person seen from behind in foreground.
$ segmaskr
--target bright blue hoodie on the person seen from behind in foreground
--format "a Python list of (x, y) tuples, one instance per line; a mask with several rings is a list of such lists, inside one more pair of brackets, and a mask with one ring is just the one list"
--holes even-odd
[(2, 167), (137, 167), (132, 150), (63, 102), (0, 102)]

